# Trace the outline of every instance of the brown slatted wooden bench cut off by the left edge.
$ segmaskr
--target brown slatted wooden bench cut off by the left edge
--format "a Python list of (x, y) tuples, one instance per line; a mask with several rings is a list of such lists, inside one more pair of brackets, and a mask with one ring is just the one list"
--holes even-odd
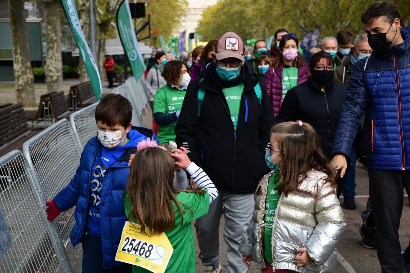
[(23, 143), (39, 131), (30, 131), (21, 103), (0, 108), (0, 156), (22, 150)]

